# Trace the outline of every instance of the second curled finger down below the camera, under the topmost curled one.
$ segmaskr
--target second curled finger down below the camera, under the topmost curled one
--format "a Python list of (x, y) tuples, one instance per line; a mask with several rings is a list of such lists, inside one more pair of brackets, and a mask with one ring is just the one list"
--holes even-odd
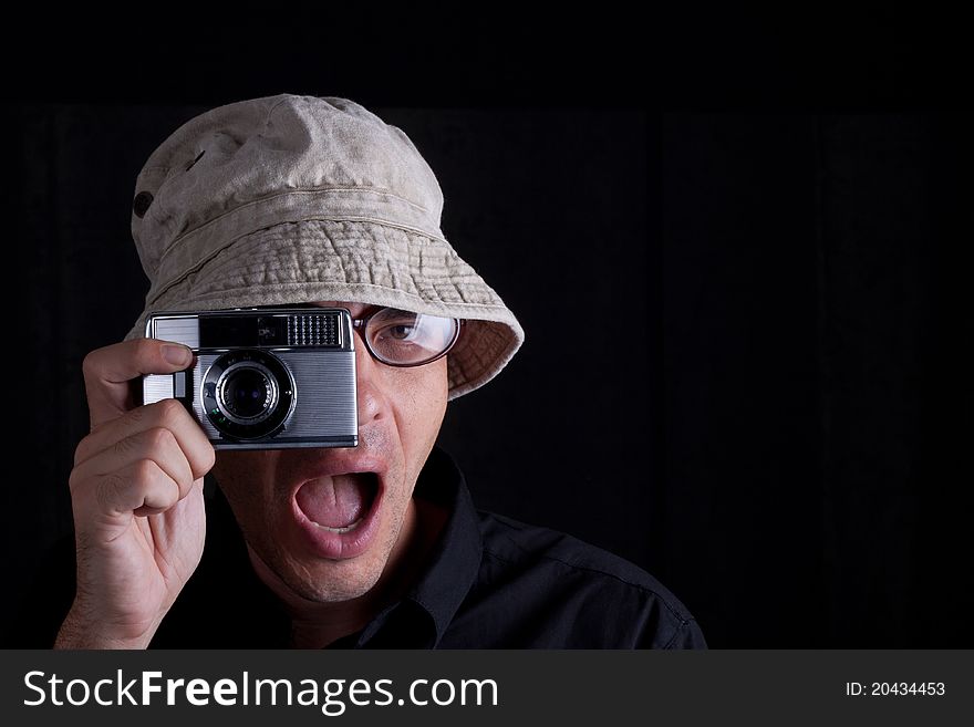
[(83, 482), (99, 481), (112, 472), (121, 471), (147, 459), (156, 464), (179, 488), (179, 499), (193, 488), (193, 469), (176, 436), (164, 427), (153, 427), (138, 432), (131, 437), (120, 439), (106, 449), (76, 466), (71, 472), (75, 489)]

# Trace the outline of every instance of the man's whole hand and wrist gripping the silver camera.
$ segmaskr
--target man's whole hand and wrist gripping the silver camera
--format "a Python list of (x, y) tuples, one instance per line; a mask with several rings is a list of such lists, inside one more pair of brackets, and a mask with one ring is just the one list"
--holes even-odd
[(136, 407), (131, 387), (191, 361), (189, 349), (154, 339), (84, 360), (91, 434), (70, 477), (77, 592), (55, 647), (145, 647), (199, 564), (213, 445), (179, 402)]

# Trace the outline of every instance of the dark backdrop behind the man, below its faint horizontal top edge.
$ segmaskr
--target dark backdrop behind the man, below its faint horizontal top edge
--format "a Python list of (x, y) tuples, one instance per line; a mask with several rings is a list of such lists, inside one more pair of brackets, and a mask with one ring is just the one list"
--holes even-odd
[[(4, 621), (70, 528), (80, 362), (141, 310), (135, 175), (200, 110), (12, 107)], [(478, 505), (643, 565), (713, 646), (974, 645), (971, 114), (374, 111), (528, 333), (447, 415)]]

